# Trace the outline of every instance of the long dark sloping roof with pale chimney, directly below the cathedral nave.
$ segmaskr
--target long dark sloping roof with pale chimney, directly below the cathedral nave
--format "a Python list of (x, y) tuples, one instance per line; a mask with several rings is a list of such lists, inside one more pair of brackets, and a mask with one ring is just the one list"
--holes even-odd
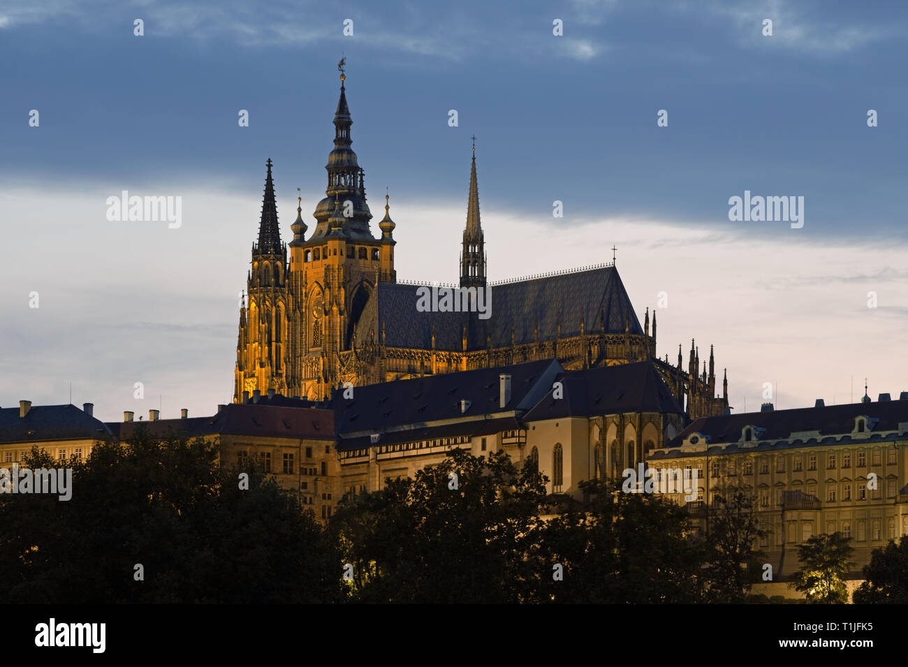
[[(329, 407), (342, 411), (338, 426), (340, 434), (487, 415), (501, 412), (498, 407), (499, 375), (511, 376), (511, 399), (504, 409), (513, 410), (553, 365), (558, 365), (555, 359), (541, 359), (514, 366), (394, 380), (356, 387), (352, 400), (343, 397), (342, 389), (335, 390)], [(461, 399), (470, 401), (469, 409), (462, 414)]]

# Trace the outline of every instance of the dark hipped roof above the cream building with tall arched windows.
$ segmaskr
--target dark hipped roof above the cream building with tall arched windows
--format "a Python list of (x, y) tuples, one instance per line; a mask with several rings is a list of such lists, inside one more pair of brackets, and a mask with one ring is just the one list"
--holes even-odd
[(649, 361), (572, 370), (559, 375), (557, 381), (562, 383), (563, 397), (555, 398), (553, 387), (523, 421), (626, 412), (684, 414)]

